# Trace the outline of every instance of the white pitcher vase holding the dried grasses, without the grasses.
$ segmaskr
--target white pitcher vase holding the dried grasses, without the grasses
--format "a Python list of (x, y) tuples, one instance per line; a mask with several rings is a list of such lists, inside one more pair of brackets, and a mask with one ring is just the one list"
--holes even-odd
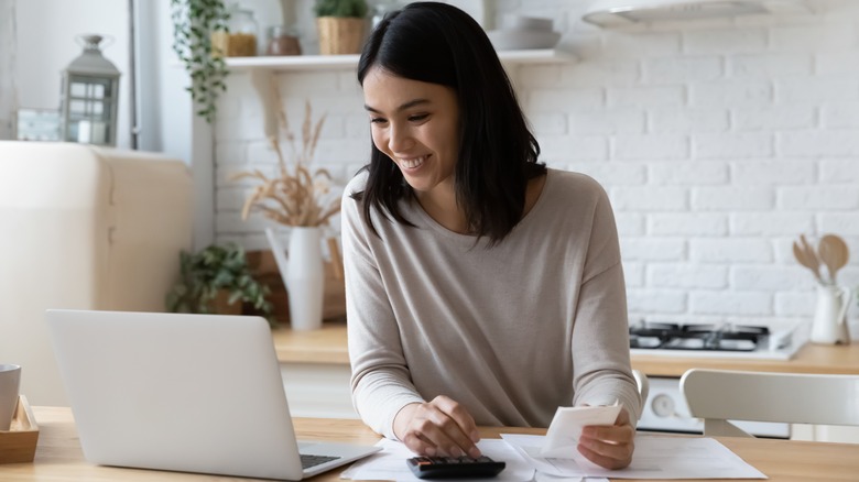
[(322, 328), (325, 265), (319, 245), (319, 228), (291, 228), (287, 252), (271, 228), (265, 229), (265, 235), (283, 284), (286, 285), (292, 329), (304, 331)]

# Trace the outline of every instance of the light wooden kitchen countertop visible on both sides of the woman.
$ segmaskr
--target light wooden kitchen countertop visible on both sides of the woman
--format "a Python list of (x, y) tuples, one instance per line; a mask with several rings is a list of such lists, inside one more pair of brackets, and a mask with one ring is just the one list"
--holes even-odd
[[(346, 322), (326, 322), (320, 330), (272, 331), (281, 363), (349, 364)], [(859, 374), (859, 343), (822, 346), (807, 343), (792, 360), (743, 358), (632, 357), (632, 368), (648, 376), (681, 376), (692, 368), (764, 372)]]

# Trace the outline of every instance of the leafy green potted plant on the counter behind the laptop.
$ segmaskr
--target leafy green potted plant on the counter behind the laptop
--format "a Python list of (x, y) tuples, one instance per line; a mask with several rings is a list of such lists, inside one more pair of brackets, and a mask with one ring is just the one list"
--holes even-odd
[(180, 253), (180, 280), (166, 296), (173, 313), (240, 315), (248, 303), (273, 324), (269, 287), (251, 274), (244, 250), (236, 243), (210, 244), (196, 253)]

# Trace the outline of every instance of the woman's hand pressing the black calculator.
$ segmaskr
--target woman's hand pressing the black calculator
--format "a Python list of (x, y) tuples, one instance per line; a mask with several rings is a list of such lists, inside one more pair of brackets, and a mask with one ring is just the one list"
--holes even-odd
[(432, 402), (404, 406), (394, 417), (394, 435), (420, 456), (480, 457), (480, 440), (471, 415), (439, 395)]

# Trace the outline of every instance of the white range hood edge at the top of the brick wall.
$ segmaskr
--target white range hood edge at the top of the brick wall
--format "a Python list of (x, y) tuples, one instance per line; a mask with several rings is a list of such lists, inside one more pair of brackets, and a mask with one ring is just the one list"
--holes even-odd
[(611, 28), (662, 20), (781, 12), (807, 13), (809, 10), (803, 0), (596, 0), (583, 19), (595, 25)]

